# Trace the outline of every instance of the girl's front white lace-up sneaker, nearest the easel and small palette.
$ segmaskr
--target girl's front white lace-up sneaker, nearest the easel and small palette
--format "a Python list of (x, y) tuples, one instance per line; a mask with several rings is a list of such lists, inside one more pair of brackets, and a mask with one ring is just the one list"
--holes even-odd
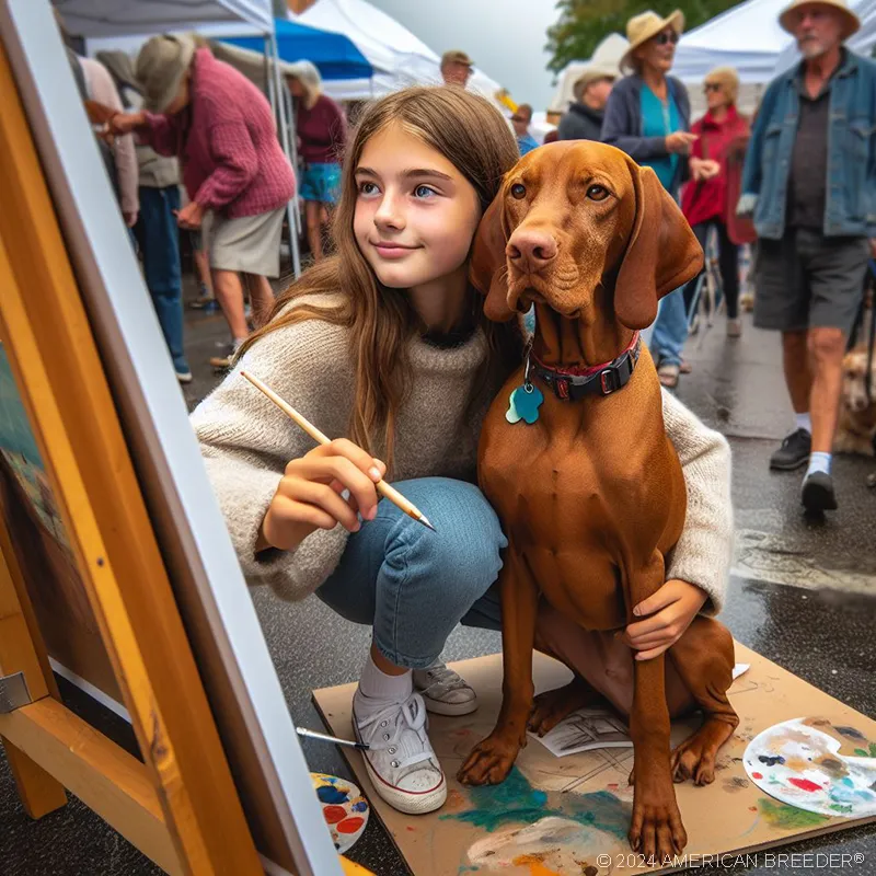
[(374, 791), (400, 812), (424, 815), (447, 799), (447, 781), (426, 735), (426, 705), (418, 693), (391, 703), (360, 719), (353, 700), (353, 729), (364, 751), (365, 766)]

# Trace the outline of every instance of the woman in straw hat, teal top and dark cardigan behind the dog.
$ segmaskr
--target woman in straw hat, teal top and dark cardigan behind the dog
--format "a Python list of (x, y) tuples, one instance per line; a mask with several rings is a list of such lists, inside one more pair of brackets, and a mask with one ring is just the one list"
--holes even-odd
[[(632, 72), (614, 83), (602, 123), (603, 142), (653, 168), (677, 200), (690, 173), (688, 157), (696, 139), (689, 132), (688, 91), (680, 80), (669, 76), (683, 27), (684, 15), (678, 10), (666, 19), (650, 11), (630, 19), (626, 23), (630, 48), (621, 60), (621, 69)], [(684, 297), (677, 289), (660, 301), (649, 344), (665, 387), (678, 384), (687, 337)]]

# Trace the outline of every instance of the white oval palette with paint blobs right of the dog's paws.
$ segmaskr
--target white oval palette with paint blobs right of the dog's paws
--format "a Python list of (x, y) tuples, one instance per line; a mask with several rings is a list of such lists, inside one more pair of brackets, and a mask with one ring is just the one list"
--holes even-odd
[[(841, 754), (842, 742), (828, 730), (854, 754)], [(756, 736), (744, 761), (751, 781), (782, 803), (832, 817), (876, 816), (876, 744), (854, 727), (785, 721)]]

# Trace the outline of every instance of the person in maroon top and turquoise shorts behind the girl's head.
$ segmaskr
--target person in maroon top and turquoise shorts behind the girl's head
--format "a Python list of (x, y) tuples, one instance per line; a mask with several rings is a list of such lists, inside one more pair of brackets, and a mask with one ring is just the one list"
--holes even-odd
[(300, 194), (304, 201), (308, 243), (313, 261), (323, 256), (323, 230), (341, 186), (341, 157), (347, 140), (344, 111), (322, 92), (322, 77), (310, 61), (291, 65), (286, 76), (296, 104), (296, 131), (304, 171)]

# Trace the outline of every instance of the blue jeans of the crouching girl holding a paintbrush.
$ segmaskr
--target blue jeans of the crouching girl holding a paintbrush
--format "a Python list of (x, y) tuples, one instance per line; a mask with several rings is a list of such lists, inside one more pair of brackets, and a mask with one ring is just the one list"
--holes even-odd
[(393, 486), (437, 532), (382, 499), (377, 517), (349, 537), (316, 595), (348, 621), (373, 626), (374, 644), (390, 662), (423, 669), (435, 662), (460, 621), (500, 629), (491, 585), (508, 542), (473, 484), (423, 477)]

